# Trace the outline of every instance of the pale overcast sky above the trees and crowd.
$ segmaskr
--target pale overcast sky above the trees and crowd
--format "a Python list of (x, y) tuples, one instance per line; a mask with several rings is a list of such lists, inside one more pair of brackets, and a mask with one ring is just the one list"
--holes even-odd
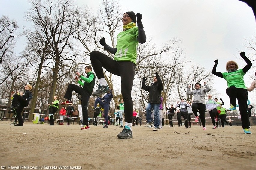
[[(93, 11), (102, 6), (102, 0), (77, 0), (78, 5), (87, 5)], [(30, 8), (26, 0), (0, 0), (0, 15), (15, 19), (20, 28), (30, 27), (24, 20), (24, 13)], [(186, 57), (193, 58), (195, 64), (212, 70), (214, 60), (219, 59), (217, 71), (226, 72), (225, 64), (235, 60), (239, 68), (245, 66), (239, 61), (239, 52), (244, 48), (245, 40), (254, 38), (255, 17), (252, 9), (238, 0), (120, 0), (123, 12), (141, 13), (142, 23), (147, 37), (152, 37), (156, 45), (166, 43), (172, 37), (181, 38), (181, 47)], [(21, 42), (19, 42), (21, 43)], [(254, 63), (253, 63), (254, 64)], [(245, 84), (249, 86), (255, 70), (245, 75)], [(216, 77), (216, 76), (215, 76)], [(203, 82), (201, 82), (203, 84)], [(222, 95), (225, 107), (229, 107), (229, 98), (225, 93), (227, 83), (215, 78), (214, 87)], [(248, 92), (251, 102), (256, 103), (254, 92)]]

